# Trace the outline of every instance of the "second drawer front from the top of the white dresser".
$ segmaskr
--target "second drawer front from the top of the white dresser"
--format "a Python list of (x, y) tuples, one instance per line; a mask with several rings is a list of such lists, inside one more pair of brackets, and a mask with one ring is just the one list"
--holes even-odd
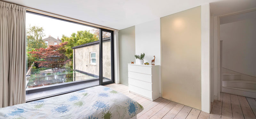
[(152, 75), (142, 74), (137, 72), (128, 71), (128, 78), (138, 79), (141, 81), (146, 81), (152, 83)]

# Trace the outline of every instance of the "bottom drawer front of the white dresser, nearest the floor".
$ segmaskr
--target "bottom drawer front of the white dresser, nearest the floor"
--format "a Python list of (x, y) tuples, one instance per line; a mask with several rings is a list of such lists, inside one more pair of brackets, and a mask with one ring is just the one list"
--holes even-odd
[(144, 97), (152, 99), (152, 92), (148, 91), (146, 89), (143, 89), (143, 88), (140, 88), (140, 87), (133, 86), (133, 85), (129, 84), (129, 91), (132, 91), (134, 93), (137, 93), (137, 94), (140, 94), (140, 95), (142, 95)]

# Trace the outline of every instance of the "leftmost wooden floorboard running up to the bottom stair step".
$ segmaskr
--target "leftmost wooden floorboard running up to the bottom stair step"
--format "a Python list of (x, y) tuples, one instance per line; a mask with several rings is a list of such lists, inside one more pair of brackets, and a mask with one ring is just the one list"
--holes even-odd
[(230, 94), (223, 93), (221, 119), (233, 119)]

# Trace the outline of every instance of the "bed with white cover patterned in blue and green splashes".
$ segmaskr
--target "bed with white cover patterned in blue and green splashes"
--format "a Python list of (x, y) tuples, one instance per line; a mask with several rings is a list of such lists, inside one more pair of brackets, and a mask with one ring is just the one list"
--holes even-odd
[(135, 100), (106, 86), (95, 86), (43, 100), (0, 108), (0, 118), (130, 119), (143, 110)]

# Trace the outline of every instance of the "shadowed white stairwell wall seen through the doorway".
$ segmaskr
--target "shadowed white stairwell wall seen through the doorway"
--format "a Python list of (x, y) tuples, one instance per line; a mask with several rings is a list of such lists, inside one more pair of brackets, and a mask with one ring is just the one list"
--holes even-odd
[(256, 18), (220, 25), (222, 66), (256, 77)]

